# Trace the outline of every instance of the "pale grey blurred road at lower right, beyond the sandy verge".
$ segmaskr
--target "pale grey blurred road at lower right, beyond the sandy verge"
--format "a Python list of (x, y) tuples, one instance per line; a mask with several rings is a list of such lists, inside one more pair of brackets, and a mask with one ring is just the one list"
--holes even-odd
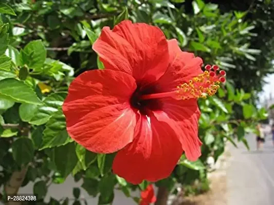
[[(269, 128), (266, 128), (269, 133)], [(262, 151), (256, 151), (253, 134), (247, 135), (250, 151), (244, 145), (230, 146), (231, 165), (227, 171), (228, 205), (274, 204), (274, 147), (266, 136)]]

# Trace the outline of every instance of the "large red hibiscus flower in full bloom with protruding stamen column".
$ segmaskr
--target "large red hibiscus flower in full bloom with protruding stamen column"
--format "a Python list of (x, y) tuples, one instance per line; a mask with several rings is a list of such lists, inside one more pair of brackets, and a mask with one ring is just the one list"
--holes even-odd
[(70, 84), (63, 104), (70, 137), (92, 152), (118, 151), (113, 171), (134, 184), (168, 177), (182, 152), (197, 160), (197, 98), (213, 95), (225, 72), (203, 72), (202, 59), (175, 39), (129, 20), (104, 27), (93, 49), (105, 69)]

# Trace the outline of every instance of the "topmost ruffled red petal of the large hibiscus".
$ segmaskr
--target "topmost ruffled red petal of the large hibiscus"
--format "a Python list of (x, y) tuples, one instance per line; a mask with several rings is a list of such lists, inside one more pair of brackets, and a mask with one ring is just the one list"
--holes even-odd
[(113, 31), (104, 27), (93, 49), (106, 69), (126, 72), (142, 84), (159, 79), (169, 64), (168, 43), (162, 31), (130, 20)]

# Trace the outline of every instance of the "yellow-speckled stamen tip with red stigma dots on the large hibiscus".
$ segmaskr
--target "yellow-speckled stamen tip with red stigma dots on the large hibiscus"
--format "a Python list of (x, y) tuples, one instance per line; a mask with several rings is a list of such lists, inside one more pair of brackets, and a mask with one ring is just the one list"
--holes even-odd
[(193, 77), (188, 82), (177, 86), (176, 97), (179, 99), (207, 98), (214, 95), (220, 88), (220, 83), (225, 83), (226, 72), (218, 66), (205, 66), (204, 73)]

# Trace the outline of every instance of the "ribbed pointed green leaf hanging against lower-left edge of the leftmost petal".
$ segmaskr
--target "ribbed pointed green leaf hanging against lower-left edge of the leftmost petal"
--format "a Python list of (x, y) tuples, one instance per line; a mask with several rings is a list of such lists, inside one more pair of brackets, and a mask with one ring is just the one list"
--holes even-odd
[(66, 145), (71, 141), (72, 139), (68, 136), (66, 131), (65, 115), (60, 110), (54, 113), (47, 122), (46, 129), (43, 132), (43, 142), (40, 150)]

